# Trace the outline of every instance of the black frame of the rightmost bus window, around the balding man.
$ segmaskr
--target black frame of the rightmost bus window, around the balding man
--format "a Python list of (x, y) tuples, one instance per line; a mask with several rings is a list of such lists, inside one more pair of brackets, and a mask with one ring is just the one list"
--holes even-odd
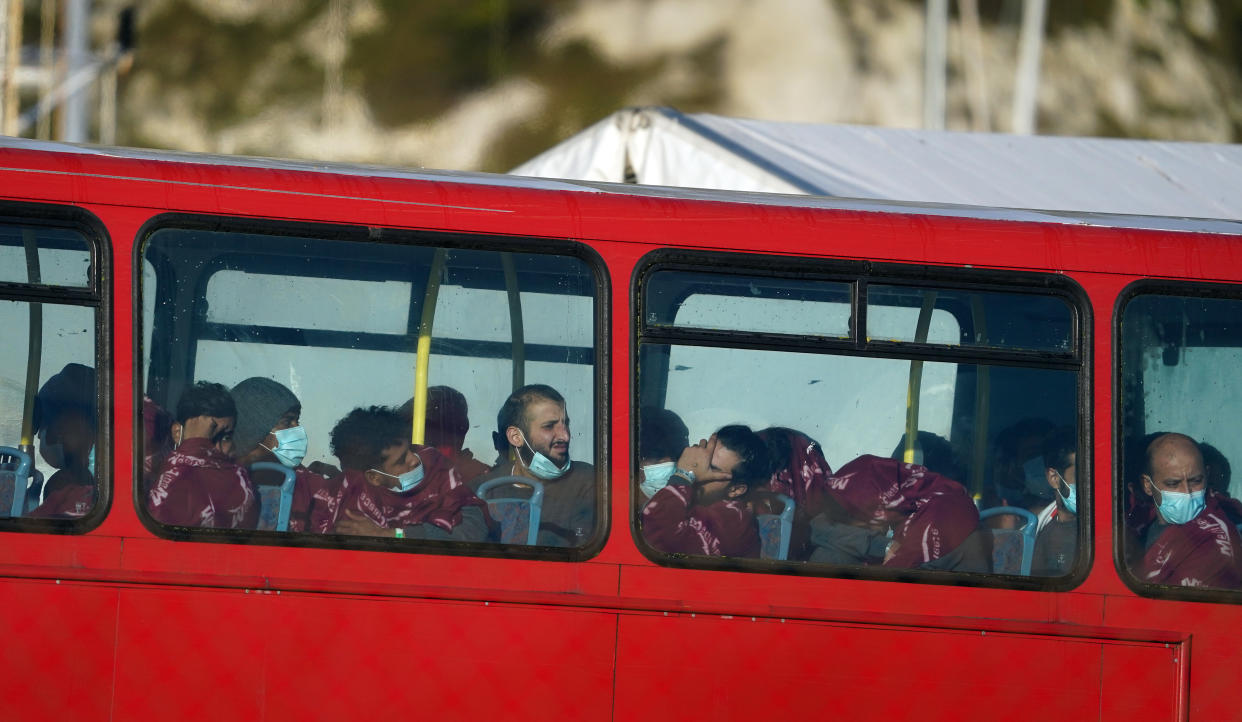
[(1125, 563), (1125, 409), (1123, 405), (1125, 359), (1122, 348), (1122, 319), (1131, 301), (1141, 296), (1170, 298), (1207, 298), (1238, 301), (1242, 303), (1242, 283), (1218, 281), (1187, 281), (1165, 278), (1139, 278), (1128, 283), (1117, 295), (1113, 304), (1113, 475), (1109, 478), (1113, 493), (1113, 567), (1126, 588), (1139, 596), (1177, 601), (1208, 601), (1215, 604), (1242, 604), (1242, 589), (1212, 589), (1205, 587), (1169, 587), (1138, 579)]

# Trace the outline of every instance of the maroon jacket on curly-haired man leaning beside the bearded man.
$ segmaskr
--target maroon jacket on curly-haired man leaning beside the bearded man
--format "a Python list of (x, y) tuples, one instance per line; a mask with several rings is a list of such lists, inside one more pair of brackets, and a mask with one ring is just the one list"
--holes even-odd
[(363, 471), (345, 470), (329, 480), (324, 488), (312, 493), (314, 503), (308, 531), (332, 532), (347, 510), (386, 529), (432, 524), (451, 532), (461, 523), (462, 510), (468, 506), (481, 507), (486, 517), (487, 507), (461, 480), (448, 460), (430, 446), (420, 446), (416, 451), (424, 466), (419, 486), (407, 492), (397, 492), (371, 485)]

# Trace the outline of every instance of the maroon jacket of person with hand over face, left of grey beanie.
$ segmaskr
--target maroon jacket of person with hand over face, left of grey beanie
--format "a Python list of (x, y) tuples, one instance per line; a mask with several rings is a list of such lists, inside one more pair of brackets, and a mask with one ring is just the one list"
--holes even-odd
[(211, 445), (186, 439), (160, 467), (147, 495), (155, 521), (178, 527), (253, 529), (258, 501), (246, 470)]

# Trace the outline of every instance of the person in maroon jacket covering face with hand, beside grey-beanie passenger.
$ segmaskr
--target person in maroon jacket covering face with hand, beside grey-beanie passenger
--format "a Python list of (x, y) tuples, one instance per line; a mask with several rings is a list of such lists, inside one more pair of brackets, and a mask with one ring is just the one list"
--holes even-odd
[(232, 456), (237, 408), (229, 389), (199, 382), (176, 403), (174, 449), (147, 495), (155, 521), (178, 527), (253, 529), (255, 485)]

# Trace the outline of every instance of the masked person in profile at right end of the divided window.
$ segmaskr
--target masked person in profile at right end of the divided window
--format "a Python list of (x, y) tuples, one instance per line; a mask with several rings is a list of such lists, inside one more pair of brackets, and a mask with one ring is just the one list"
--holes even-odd
[(1031, 574), (1068, 574), (1078, 551), (1078, 435), (1073, 427), (1053, 431), (1043, 444), (1048, 486), (1056, 500), (1038, 514)]

